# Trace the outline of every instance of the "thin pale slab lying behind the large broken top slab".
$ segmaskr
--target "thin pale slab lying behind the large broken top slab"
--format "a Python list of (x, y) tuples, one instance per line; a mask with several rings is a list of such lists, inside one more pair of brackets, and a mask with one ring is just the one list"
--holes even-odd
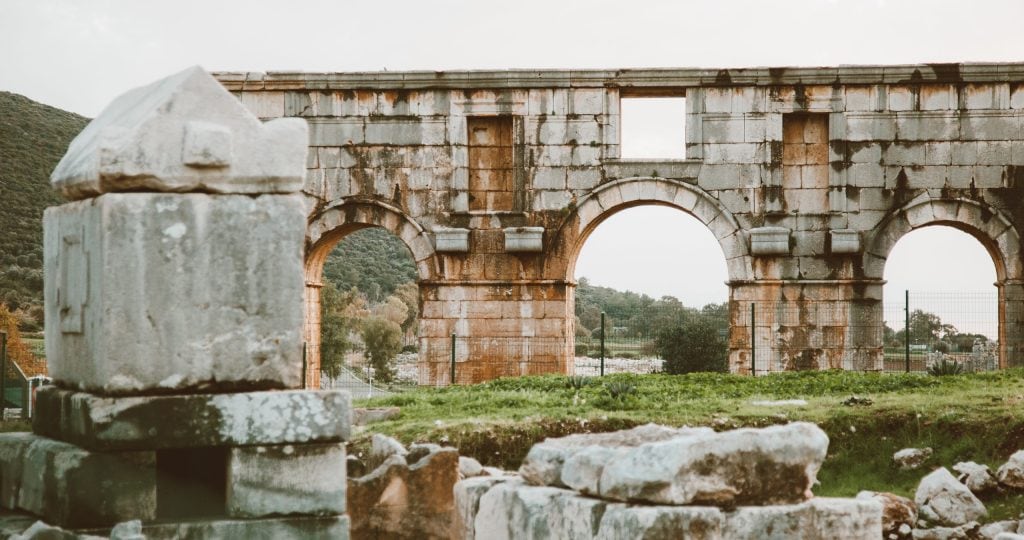
[(562, 465), (569, 456), (588, 447), (628, 448), (645, 443), (666, 441), (675, 437), (713, 433), (710, 427), (667, 427), (644, 424), (631, 429), (605, 433), (578, 433), (545, 439), (529, 449), (519, 467), (519, 474), (535, 486), (565, 487), (562, 483)]

